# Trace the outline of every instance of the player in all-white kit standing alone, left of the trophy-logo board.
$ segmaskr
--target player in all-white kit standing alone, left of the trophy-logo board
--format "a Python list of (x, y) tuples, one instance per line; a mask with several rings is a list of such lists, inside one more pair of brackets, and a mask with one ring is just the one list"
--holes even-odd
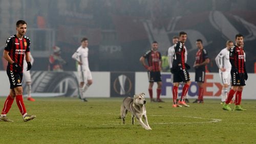
[(72, 58), (78, 62), (77, 71), (79, 77), (79, 94), (83, 102), (87, 102), (85, 92), (88, 87), (93, 83), (92, 74), (88, 62), (88, 39), (82, 38), (81, 46), (72, 55)]

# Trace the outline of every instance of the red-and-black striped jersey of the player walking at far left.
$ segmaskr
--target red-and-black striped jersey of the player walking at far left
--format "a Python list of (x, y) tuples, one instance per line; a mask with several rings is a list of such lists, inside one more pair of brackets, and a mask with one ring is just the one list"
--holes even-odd
[[(28, 37), (23, 36), (22, 39), (19, 39), (16, 35), (13, 35), (7, 39), (5, 51), (8, 51), (11, 59), (23, 68), (25, 53), (30, 52), (29, 45), (30, 39)], [(7, 70), (13, 71), (12, 64), (8, 63)]]

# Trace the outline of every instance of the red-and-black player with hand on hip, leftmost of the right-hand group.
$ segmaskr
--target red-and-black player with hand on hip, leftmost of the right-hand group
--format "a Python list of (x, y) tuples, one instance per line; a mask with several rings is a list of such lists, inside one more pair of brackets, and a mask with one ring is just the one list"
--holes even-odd
[[(148, 92), (150, 93), (151, 102), (164, 102), (160, 99), (162, 80), (161, 80), (161, 65), (162, 57), (161, 53), (158, 50), (158, 43), (154, 41), (152, 43), (152, 49), (147, 51), (142, 57), (140, 57), (140, 62), (147, 69), (148, 81), (150, 85), (148, 86)], [(147, 59), (148, 65), (145, 63)], [(157, 82), (157, 100), (153, 99), (153, 85), (154, 82)]]

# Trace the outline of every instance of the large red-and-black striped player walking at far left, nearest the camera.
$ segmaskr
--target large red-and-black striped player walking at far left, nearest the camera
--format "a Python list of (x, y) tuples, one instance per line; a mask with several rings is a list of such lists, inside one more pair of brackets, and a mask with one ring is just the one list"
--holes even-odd
[(17, 33), (10, 36), (5, 45), (4, 58), (8, 61), (7, 75), (10, 81), (10, 93), (5, 101), (4, 108), (1, 113), (1, 121), (13, 122), (7, 118), (6, 114), (11, 109), (14, 98), (20, 113), (22, 113), (24, 122), (28, 122), (35, 118), (35, 115), (27, 114), (26, 107), (23, 102), (23, 60), (26, 55), (26, 62), (28, 64), (27, 70), (31, 69), (30, 62), (30, 39), (25, 36), (27, 31), (27, 23), (24, 20), (16, 22)]

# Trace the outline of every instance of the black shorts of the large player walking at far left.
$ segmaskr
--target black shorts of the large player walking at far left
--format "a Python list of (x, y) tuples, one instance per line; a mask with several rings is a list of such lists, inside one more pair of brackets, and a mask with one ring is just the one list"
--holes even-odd
[(10, 70), (6, 70), (6, 72), (10, 81), (10, 89), (22, 86), (23, 73), (14, 73)]

